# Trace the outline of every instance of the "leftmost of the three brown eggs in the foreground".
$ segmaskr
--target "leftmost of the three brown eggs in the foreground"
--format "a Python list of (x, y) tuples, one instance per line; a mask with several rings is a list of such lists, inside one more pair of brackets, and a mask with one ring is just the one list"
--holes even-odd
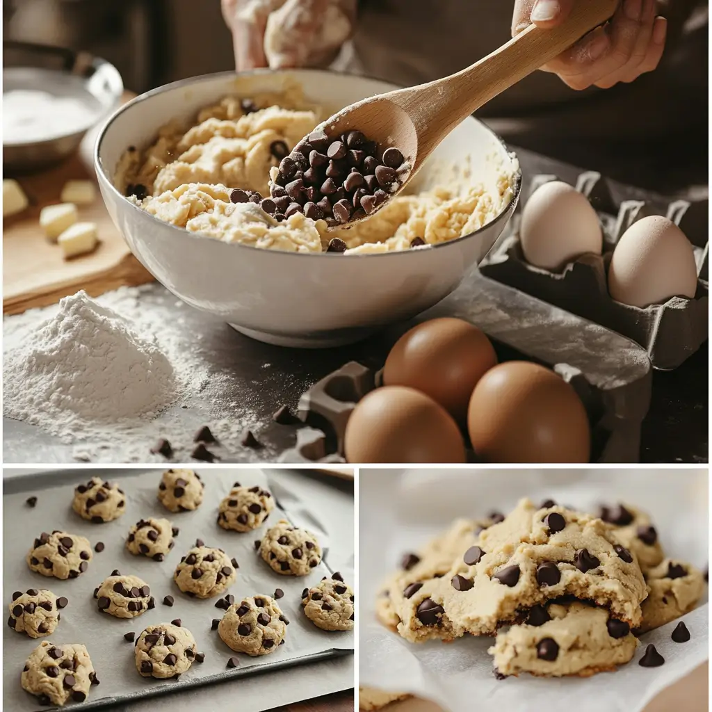
[(464, 462), (455, 421), (433, 399), (402, 386), (367, 394), (346, 424), (348, 462)]

